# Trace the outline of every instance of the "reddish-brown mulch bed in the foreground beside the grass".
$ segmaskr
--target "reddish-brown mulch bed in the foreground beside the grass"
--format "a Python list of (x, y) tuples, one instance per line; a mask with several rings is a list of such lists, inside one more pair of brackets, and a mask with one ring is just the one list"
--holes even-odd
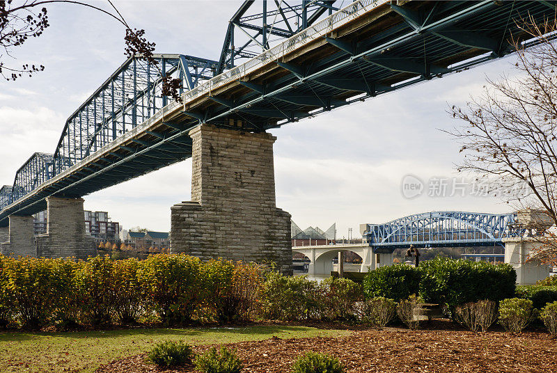
[[(361, 372), (557, 372), (557, 340), (547, 333), (509, 335), (502, 332), (387, 328), (353, 331), (340, 338), (271, 338), (230, 344), (244, 360), (246, 373), (288, 373), (305, 351), (340, 358), (348, 373)], [(194, 347), (196, 352), (208, 346)], [(194, 373), (194, 367), (161, 370), (145, 355), (102, 365), (96, 373)]]

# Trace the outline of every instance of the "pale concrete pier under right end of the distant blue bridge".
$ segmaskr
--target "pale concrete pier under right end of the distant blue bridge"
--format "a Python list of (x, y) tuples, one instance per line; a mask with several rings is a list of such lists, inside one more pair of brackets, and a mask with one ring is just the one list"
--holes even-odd
[(551, 267), (541, 264), (538, 260), (528, 260), (533, 252), (542, 246), (535, 239), (523, 237), (509, 237), (503, 239), (505, 243), (505, 263), (517, 271), (518, 285), (533, 285), (543, 280), (551, 272)]

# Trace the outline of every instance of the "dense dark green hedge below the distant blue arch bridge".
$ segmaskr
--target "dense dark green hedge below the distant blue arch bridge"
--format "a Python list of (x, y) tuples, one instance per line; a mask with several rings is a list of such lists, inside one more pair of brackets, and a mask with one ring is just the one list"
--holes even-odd
[(419, 294), (427, 303), (456, 305), (489, 299), (501, 301), (515, 294), (516, 272), (509, 264), (489, 264), (437, 257), (421, 262), (379, 267), (363, 280), (368, 297), (384, 296), (400, 301)]

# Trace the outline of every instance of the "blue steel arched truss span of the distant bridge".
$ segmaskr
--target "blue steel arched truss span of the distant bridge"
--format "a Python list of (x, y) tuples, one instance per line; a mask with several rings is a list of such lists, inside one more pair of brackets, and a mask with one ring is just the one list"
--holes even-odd
[(521, 237), (524, 228), (517, 214), (478, 212), (423, 212), (383, 224), (368, 224), (366, 232), (375, 253), (391, 253), (395, 248), (503, 246), (507, 237)]

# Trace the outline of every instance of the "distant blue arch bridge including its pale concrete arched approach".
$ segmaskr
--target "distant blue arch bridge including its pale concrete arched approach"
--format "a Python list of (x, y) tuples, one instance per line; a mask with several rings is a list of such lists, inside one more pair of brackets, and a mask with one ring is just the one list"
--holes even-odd
[[(527, 214), (483, 214), (479, 212), (435, 211), (404, 216), (382, 224), (361, 224), (363, 244), (298, 246), (310, 260), (309, 273), (329, 274), (332, 260), (340, 251), (352, 251), (361, 257), (359, 271), (366, 272), (383, 264), (392, 264), (397, 248), (478, 247), (505, 248), (505, 239), (526, 235)], [(539, 227), (539, 225), (536, 225)]]

